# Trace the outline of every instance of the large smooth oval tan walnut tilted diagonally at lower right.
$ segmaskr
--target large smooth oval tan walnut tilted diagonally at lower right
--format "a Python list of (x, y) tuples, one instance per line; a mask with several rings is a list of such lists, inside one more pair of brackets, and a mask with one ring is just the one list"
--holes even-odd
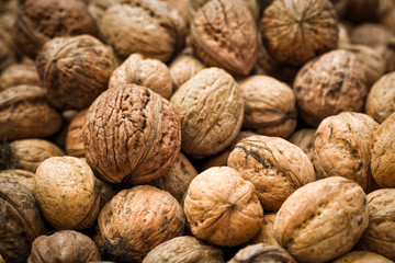
[(295, 191), (282, 205), (274, 237), (297, 262), (326, 262), (349, 251), (369, 224), (363, 190), (335, 176)]

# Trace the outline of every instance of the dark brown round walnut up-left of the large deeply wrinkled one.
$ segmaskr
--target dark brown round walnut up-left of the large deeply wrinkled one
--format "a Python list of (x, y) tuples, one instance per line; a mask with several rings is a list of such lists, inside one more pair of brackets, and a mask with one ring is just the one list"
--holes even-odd
[(55, 37), (36, 57), (50, 103), (60, 110), (82, 110), (108, 89), (115, 68), (112, 49), (90, 35)]

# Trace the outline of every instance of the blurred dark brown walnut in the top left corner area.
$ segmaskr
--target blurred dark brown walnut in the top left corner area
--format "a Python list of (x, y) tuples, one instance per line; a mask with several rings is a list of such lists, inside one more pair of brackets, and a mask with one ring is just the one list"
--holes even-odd
[(82, 0), (26, 0), (15, 23), (16, 48), (35, 58), (56, 36), (95, 34), (95, 25)]

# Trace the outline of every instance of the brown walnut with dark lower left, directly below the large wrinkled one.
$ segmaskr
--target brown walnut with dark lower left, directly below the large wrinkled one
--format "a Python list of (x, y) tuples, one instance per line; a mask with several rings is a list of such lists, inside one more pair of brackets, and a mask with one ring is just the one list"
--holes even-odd
[(182, 236), (184, 222), (177, 199), (149, 185), (121, 191), (98, 218), (104, 254), (116, 262), (142, 262), (158, 244)]

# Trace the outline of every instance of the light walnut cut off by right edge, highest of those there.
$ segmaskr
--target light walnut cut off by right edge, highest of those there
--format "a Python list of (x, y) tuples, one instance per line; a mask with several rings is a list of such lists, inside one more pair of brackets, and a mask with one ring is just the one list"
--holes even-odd
[(395, 113), (395, 72), (381, 77), (369, 91), (365, 113), (377, 123), (383, 123)]

